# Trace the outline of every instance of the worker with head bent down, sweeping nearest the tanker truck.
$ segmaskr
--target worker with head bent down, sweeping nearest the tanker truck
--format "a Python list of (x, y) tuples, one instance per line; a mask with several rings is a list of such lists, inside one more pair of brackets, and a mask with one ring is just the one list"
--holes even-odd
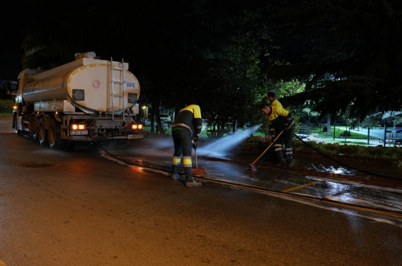
[(174, 118), (171, 126), (174, 154), (172, 161), (172, 179), (178, 178), (178, 167), (183, 156), (186, 187), (201, 186), (193, 179), (193, 162), (191, 160), (192, 147), (196, 148), (197, 140), (202, 130), (201, 110), (197, 104), (190, 104), (181, 109)]

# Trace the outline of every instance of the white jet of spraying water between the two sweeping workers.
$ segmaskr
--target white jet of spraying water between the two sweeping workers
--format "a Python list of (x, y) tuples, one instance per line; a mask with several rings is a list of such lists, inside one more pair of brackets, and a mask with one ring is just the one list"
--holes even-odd
[(252, 126), (251, 128), (246, 129), (245, 131), (238, 131), (235, 134), (228, 135), (224, 138), (220, 138), (219, 140), (215, 140), (205, 147), (201, 147), (198, 150), (200, 155), (207, 155), (212, 157), (224, 157), (227, 155), (229, 150), (233, 149), (233, 147), (238, 146), (243, 142), (246, 138), (248, 138), (252, 133), (257, 131), (262, 124), (257, 126)]

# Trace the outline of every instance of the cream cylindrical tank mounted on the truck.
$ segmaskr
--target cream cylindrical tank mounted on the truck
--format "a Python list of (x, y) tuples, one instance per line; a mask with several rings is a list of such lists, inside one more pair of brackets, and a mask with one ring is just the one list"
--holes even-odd
[(27, 104), (68, 100), (83, 110), (127, 109), (140, 97), (140, 84), (127, 69), (127, 63), (79, 59), (34, 75), (22, 97)]

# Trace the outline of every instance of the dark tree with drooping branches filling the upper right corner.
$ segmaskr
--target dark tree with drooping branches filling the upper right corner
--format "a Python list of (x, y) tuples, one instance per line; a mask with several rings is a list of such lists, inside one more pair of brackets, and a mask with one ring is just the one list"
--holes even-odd
[(305, 81), (305, 92), (286, 97), (287, 104), (309, 100), (321, 116), (349, 110), (360, 120), (401, 109), (401, 1), (290, 0), (269, 11), (269, 33), (300, 51), (288, 58), (293, 64), (266, 70), (273, 80)]

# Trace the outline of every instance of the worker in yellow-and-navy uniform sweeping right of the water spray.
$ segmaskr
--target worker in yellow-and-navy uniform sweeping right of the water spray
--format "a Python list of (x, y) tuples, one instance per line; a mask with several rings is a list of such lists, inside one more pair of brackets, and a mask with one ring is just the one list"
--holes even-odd
[[(260, 109), (262, 114), (267, 116), (269, 123), (269, 131), (274, 140), (274, 150), (278, 162), (276, 166), (280, 167), (287, 164), (288, 167), (293, 167), (293, 133), (295, 131), (295, 121), (292, 118), (290, 111), (287, 111), (279, 105), (269, 107), (268, 104), (261, 104)], [(282, 132), (282, 133), (281, 133)], [(279, 135), (279, 138), (275, 138), (275, 135)], [(285, 151), (283, 145), (285, 144)], [(284, 159), (284, 153), (286, 160)]]

